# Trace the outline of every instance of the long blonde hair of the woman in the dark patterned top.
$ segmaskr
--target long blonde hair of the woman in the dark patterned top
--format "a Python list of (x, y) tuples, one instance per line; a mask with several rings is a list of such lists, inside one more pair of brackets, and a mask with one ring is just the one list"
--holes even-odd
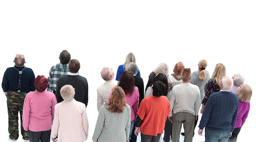
[(222, 63), (218, 63), (211, 75), (211, 79), (215, 79), (217, 84), (220, 86), (220, 78), (223, 76), (226, 76), (226, 67)]

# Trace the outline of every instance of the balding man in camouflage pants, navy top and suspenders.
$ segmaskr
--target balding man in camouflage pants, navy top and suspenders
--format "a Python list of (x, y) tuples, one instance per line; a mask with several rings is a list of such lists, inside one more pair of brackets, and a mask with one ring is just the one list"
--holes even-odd
[[(19, 137), (18, 112), (20, 112), (21, 134), (25, 142), (29, 142), (29, 133), (22, 127), (22, 111), (25, 96), (30, 91), (35, 91), (35, 75), (32, 69), (24, 66), (25, 56), (17, 54), (13, 60), (14, 67), (9, 67), (4, 72), (2, 89), (7, 97), (9, 141), (16, 142)], [(16, 69), (15, 69), (16, 68)], [(22, 70), (22, 69), (25, 70)]]

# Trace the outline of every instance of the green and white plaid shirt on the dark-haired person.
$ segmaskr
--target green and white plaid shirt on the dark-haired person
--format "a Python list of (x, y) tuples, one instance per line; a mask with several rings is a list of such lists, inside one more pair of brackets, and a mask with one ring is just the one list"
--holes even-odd
[(56, 84), (58, 82), (58, 78), (61, 76), (66, 75), (69, 72), (68, 64), (56, 64), (55, 66), (52, 66), (49, 71), (48, 76), (48, 87), (47, 91), (54, 91), (56, 90)]

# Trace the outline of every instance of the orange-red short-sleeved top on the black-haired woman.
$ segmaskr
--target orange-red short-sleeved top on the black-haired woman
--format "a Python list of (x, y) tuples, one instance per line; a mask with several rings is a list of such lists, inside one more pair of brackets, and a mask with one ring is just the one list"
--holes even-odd
[(153, 136), (164, 133), (165, 121), (170, 113), (171, 107), (166, 96), (155, 97), (150, 95), (144, 98), (137, 112), (142, 120), (139, 126), (141, 133)]

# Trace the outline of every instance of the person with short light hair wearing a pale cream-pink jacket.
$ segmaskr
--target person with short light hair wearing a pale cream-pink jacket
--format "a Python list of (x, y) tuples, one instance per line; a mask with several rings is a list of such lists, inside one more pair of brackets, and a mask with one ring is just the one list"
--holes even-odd
[(75, 88), (72, 85), (61, 87), (62, 102), (55, 105), (52, 124), (52, 141), (83, 142), (88, 138), (88, 117), (84, 103), (74, 99)]

